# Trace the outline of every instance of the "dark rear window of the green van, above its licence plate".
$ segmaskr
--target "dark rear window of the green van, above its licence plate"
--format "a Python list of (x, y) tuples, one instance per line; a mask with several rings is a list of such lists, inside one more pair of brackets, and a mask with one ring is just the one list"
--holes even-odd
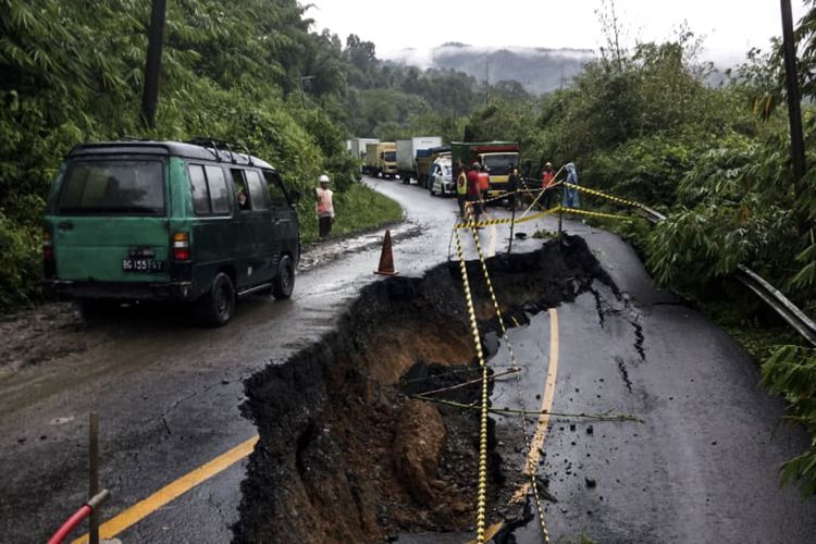
[(163, 215), (161, 161), (73, 162), (57, 203), (58, 214)]

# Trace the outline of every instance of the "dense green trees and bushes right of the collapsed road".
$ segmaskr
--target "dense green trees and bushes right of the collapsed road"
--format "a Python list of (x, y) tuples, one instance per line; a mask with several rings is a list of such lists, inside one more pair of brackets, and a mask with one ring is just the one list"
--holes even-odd
[[(789, 401), (787, 420), (812, 443), (781, 470), (782, 482), (816, 492), (816, 349), (783, 324), (730, 274), (742, 263), (816, 316), (816, 2), (796, 30), (808, 170), (796, 186), (780, 46), (752, 50), (710, 85), (701, 40), (688, 30), (664, 44), (608, 47), (568, 89), (533, 104), (478, 111), (484, 136), (522, 134), (530, 171), (544, 161), (578, 165), (582, 185), (635, 200), (668, 219), (598, 224), (639, 249), (653, 277), (721, 323), (762, 363), (762, 381)], [(614, 17), (613, 17), (614, 18)], [(490, 131), (492, 123), (499, 126)], [(473, 123), (478, 125), (479, 123)], [(532, 152), (531, 152), (532, 151)], [(556, 166), (557, 168), (557, 166)], [(582, 206), (623, 208), (586, 194)], [(784, 331), (780, 333), (780, 331)]]

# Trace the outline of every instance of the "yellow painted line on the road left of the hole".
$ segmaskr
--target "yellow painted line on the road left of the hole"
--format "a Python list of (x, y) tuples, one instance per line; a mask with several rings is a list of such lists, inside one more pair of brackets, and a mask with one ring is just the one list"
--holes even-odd
[[(99, 537), (111, 539), (128, 527), (138, 523), (162, 506), (171, 500), (187, 493), (196, 485), (209, 480), (219, 472), (232, 467), (235, 462), (247, 457), (258, 443), (258, 435), (235, 446), (231, 450), (215, 457), (211, 461), (201, 465), (197, 469), (187, 472), (178, 480), (165, 485), (146, 499), (136, 503), (122, 514), (112, 518), (99, 527)], [(88, 535), (84, 534), (76, 539), (73, 544), (85, 544), (88, 542)]]

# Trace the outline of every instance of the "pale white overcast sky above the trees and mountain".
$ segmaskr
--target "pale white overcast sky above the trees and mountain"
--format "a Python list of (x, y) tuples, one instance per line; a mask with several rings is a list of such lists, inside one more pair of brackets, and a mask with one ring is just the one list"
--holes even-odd
[[(406, 48), (428, 50), (445, 41), (482, 47), (597, 49), (595, 11), (601, 0), (302, 0), (317, 32), (329, 28), (345, 44), (357, 34), (376, 45), (378, 57)], [(805, 13), (791, 0), (794, 25)], [(663, 40), (684, 21), (705, 37), (712, 60), (741, 60), (752, 47), (767, 49), (781, 35), (779, 0), (616, 0), (629, 45)], [(401, 57), (401, 55), (400, 55)]]

